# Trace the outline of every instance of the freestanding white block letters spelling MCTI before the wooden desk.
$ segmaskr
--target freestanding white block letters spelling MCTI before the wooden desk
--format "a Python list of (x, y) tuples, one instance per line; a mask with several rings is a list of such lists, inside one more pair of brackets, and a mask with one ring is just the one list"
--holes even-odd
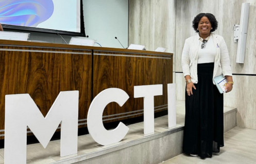
[[(162, 95), (162, 85), (134, 86), (134, 98), (144, 97), (144, 134), (154, 132), (154, 104), (156, 95)], [(167, 85), (168, 127), (176, 126), (175, 84)], [(123, 106), (128, 94), (122, 89), (109, 88), (100, 92), (92, 101), (87, 117), (88, 130), (101, 145), (121, 141), (129, 128), (122, 122), (114, 130), (103, 126), (105, 107), (115, 102)], [(29, 94), (5, 97), (5, 163), (26, 163), (27, 126), (44, 148), (61, 124), (60, 156), (77, 153), (78, 91), (60, 92), (46, 117), (42, 115)]]

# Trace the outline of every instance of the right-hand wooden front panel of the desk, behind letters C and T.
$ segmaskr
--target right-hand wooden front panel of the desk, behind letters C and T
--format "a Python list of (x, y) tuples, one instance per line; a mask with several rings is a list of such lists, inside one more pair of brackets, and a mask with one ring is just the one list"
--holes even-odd
[[(133, 98), (134, 86), (163, 85), (163, 95), (155, 96), (155, 107), (167, 109), (167, 84), (173, 81), (173, 58), (171, 55), (149, 55), (119, 52), (94, 52), (93, 55), (93, 97), (107, 88), (123, 89), (129, 99), (123, 107), (116, 103), (109, 104), (104, 110), (104, 119), (113, 118), (109, 115), (131, 112), (123, 115), (121, 120), (141, 116), (136, 113), (143, 109), (143, 98)], [(161, 111), (161, 110), (159, 110)], [(130, 115), (126, 117), (127, 115)], [(116, 116), (115, 116), (116, 117)], [(112, 121), (113, 121), (112, 120)]]

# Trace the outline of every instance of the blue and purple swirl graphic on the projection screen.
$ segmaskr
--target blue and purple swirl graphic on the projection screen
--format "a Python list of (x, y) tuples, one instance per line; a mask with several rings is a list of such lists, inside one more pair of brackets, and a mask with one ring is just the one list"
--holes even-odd
[(2, 24), (37, 27), (52, 16), (52, 0), (5, 0), (0, 1)]

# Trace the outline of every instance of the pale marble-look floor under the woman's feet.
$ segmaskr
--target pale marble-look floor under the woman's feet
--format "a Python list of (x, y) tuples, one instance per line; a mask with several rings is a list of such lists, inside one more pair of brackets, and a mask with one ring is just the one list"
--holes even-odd
[(235, 127), (224, 134), (223, 148), (220, 153), (213, 154), (212, 158), (201, 159), (200, 157), (192, 157), (180, 154), (174, 158), (166, 160), (161, 164), (251, 164), (256, 163), (256, 130), (242, 127)]

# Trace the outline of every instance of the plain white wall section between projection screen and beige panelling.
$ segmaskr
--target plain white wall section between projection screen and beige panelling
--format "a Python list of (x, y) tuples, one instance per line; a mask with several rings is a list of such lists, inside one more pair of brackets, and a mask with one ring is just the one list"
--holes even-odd
[[(102, 47), (128, 47), (128, 0), (83, 0), (86, 34)], [(95, 46), (97, 46), (95, 44)]]

